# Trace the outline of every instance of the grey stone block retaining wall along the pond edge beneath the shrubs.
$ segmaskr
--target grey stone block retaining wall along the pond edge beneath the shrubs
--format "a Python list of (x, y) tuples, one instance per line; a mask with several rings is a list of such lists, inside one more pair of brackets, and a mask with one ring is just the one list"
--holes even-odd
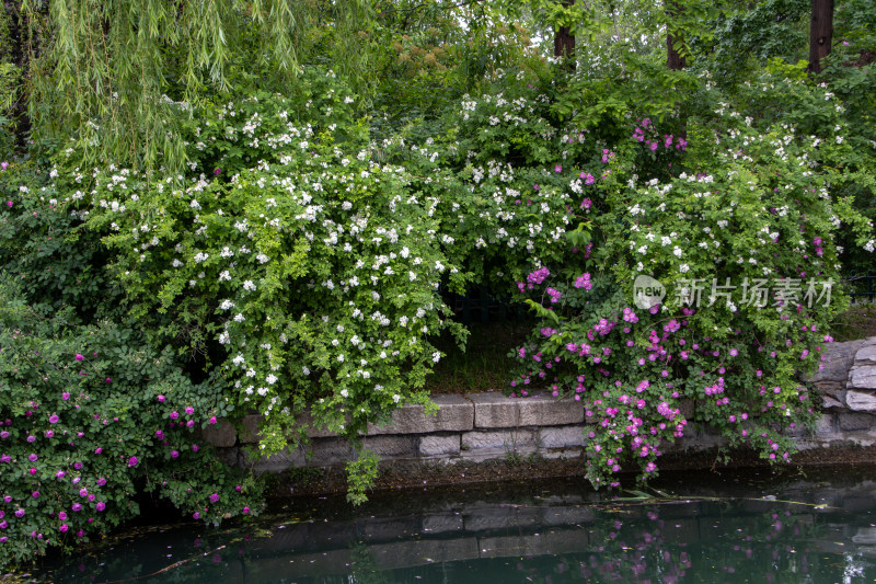
[[(823, 368), (811, 379), (823, 394), (823, 414), (814, 435), (797, 436), (802, 449), (876, 444), (876, 337), (832, 343), (822, 355)], [(368, 427), (362, 443), (383, 460), (482, 461), (538, 455), (543, 458), (584, 454), (584, 406), (550, 394), (507, 398), (502, 393), (436, 396), (435, 415), (422, 405), (405, 405), (385, 426)], [(682, 404), (691, 416), (693, 403)], [(307, 424), (307, 421), (302, 421)], [(204, 432), (228, 462), (256, 472), (279, 472), (291, 467), (328, 467), (350, 459), (344, 438), (310, 428), (308, 448), (290, 449), (266, 458), (250, 458), (243, 446), (258, 442), (257, 415), (243, 420), (241, 432), (228, 422)], [(705, 449), (722, 438), (689, 426), (672, 449)]]

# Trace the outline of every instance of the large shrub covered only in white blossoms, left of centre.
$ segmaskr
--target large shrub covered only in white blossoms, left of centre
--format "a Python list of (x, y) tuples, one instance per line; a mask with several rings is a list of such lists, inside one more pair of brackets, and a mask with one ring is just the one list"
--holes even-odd
[(405, 191), (404, 169), (354, 148), (346, 114), (293, 122), (301, 100), (322, 112), (351, 99), (310, 95), (197, 111), (192, 165), (209, 172), (157, 183), (108, 167), (85, 199), (135, 313), (169, 314), (208, 352), (232, 403), (264, 415), (265, 453), (304, 437), (306, 409), (355, 437), (425, 403), (441, 357), (428, 336), (450, 325), (438, 286), (461, 282), (435, 244), (435, 202)]

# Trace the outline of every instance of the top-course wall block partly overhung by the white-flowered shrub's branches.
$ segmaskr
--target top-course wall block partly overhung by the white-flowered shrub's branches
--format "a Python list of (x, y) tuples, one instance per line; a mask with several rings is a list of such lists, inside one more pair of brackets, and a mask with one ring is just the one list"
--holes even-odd
[(389, 424), (368, 424), (368, 435), (465, 432), (474, 427), (474, 404), (462, 396), (435, 396), (433, 401), (439, 408), (437, 413), (427, 415), (420, 404), (404, 405), (392, 413)]

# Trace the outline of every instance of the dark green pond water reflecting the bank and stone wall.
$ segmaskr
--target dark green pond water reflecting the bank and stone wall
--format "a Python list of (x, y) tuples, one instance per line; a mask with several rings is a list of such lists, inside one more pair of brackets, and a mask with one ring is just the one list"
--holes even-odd
[(653, 499), (583, 480), (278, 502), (257, 526), (160, 526), (35, 574), (58, 583), (876, 580), (876, 468), (666, 474)]

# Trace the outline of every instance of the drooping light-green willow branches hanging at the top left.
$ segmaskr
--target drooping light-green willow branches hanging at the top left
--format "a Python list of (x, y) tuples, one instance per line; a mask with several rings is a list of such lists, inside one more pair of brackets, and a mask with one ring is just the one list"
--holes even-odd
[[(180, 168), (174, 125), (232, 83), (293, 82), (314, 25), (367, 20), (353, 0), (19, 0), (27, 115), (39, 139), (137, 167)], [(337, 50), (358, 49), (338, 43)], [(350, 59), (353, 61), (353, 59)], [(347, 62), (347, 61), (344, 61)]]

